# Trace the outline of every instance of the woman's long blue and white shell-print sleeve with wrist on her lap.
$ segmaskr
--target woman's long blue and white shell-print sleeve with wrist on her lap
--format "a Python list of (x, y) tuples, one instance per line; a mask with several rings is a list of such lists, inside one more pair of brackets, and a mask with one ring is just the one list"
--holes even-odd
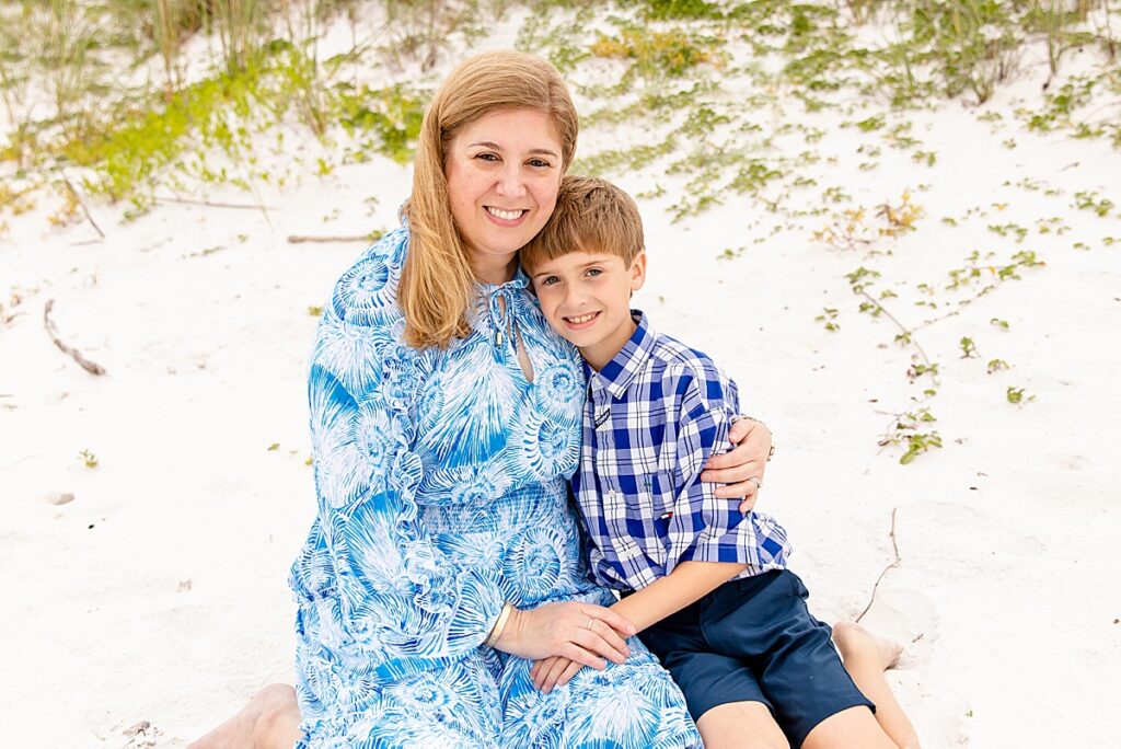
[(293, 571), (297, 593), (332, 590), (345, 636), (386, 668), (478, 647), (502, 607), (497, 577), (457, 570), (418, 520), (423, 352), (404, 344), (397, 306), (407, 249), (407, 229), (386, 235), (324, 308), (308, 377), (321, 539)]

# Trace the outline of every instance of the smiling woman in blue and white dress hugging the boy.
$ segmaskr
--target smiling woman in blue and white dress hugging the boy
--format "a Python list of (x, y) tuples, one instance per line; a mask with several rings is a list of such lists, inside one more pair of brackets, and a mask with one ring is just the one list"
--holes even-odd
[[(406, 225), (339, 280), (312, 355), (298, 705), (270, 687), (197, 746), (700, 745), (587, 580), (566, 486), (583, 372), (518, 269), (576, 132), (564, 82), (531, 55), (480, 55), (437, 92)], [(761, 475), (770, 436), (753, 432), (723, 456), (743, 463), (729, 496)], [(555, 655), (591, 668), (534, 688), (532, 662)]]

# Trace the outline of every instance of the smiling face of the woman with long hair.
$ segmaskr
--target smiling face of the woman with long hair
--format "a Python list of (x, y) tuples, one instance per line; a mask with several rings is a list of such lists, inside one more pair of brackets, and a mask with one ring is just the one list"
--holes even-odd
[(509, 263), (556, 206), (560, 140), (544, 112), (502, 110), (465, 126), (444, 172), (452, 215), (476, 268)]

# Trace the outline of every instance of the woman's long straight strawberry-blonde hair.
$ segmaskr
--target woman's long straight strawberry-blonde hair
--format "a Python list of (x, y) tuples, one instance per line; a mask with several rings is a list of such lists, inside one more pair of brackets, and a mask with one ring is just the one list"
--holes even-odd
[(453, 337), (470, 334), (466, 313), (475, 277), (452, 218), (446, 156), (465, 126), (511, 109), (549, 115), (560, 140), (560, 168), (566, 170), (576, 150), (576, 108), (560, 74), (540, 57), (515, 50), (471, 57), (452, 71), (425, 111), (413, 195), (402, 209), (410, 237), (397, 294), (405, 313), (405, 342), (411, 346), (446, 346)]

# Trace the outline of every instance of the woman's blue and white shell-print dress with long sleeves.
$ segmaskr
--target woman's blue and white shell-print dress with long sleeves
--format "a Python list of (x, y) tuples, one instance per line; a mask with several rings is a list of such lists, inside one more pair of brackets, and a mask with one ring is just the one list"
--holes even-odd
[(312, 354), (318, 511), (289, 581), (297, 746), (700, 746), (638, 638), (624, 664), (549, 694), (531, 663), (483, 646), (507, 600), (614, 600), (587, 579), (567, 501), (583, 370), (520, 272), (479, 287), (469, 337), (406, 345), (407, 249), (402, 228), (343, 275)]

